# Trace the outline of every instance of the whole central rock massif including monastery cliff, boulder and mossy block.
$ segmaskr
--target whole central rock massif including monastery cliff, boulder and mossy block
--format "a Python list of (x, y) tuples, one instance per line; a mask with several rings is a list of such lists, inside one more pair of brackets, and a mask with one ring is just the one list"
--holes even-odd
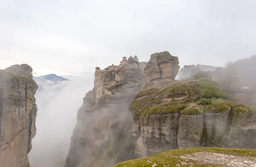
[(178, 63), (169, 52), (152, 54), (144, 68), (147, 86), (140, 68), (96, 70), (65, 167), (111, 167), (188, 147), (256, 149), (256, 108), (228, 101), (207, 72), (175, 80)]

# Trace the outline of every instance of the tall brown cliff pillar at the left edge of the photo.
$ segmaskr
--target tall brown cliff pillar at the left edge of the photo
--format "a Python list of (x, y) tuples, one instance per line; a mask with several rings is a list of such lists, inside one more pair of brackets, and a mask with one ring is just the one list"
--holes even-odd
[(26, 64), (0, 70), (0, 164), (29, 167), (37, 107), (32, 68)]

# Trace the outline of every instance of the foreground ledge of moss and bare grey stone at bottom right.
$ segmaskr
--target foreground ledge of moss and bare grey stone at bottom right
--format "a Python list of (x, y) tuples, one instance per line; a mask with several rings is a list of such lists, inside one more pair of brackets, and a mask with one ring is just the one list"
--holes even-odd
[(256, 150), (198, 147), (169, 150), (114, 167), (256, 167)]

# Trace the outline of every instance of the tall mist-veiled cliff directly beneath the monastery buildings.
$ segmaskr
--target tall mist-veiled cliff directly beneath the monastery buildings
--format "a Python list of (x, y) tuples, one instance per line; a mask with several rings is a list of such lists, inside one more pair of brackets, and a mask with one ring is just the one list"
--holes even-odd
[(78, 111), (65, 167), (110, 167), (137, 158), (137, 133), (133, 133), (128, 108), (144, 86), (143, 71), (138, 68), (95, 72), (94, 88)]

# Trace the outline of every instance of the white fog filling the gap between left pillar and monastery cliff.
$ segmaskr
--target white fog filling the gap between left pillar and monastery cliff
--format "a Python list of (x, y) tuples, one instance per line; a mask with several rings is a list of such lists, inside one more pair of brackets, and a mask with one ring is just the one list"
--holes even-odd
[(72, 82), (41, 82), (35, 94), (38, 107), (36, 136), (29, 153), (31, 167), (63, 167), (85, 93), (93, 88), (93, 74), (63, 76)]

